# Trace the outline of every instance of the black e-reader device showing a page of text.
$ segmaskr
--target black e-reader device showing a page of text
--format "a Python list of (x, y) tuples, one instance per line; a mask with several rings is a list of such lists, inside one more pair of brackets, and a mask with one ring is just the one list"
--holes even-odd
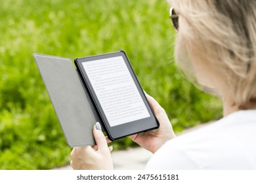
[(111, 141), (159, 127), (125, 52), (76, 58), (75, 65)]

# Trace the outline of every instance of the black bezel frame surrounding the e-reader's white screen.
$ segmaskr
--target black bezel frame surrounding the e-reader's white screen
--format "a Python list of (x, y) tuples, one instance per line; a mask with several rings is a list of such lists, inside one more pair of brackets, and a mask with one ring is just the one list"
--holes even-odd
[[(93, 89), (93, 86), (87, 76), (87, 73), (86, 73), (82, 63), (85, 61), (95, 61), (98, 59), (114, 58), (117, 56), (122, 56), (123, 60), (125, 61), (125, 65), (127, 65), (127, 69), (129, 70), (129, 73), (131, 74), (133, 81), (135, 82), (137, 90), (140, 93), (140, 97), (142, 97), (142, 101), (144, 102), (144, 105), (146, 106), (146, 108), (150, 114), (150, 117), (136, 120), (133, 122), (128, 122), (126, 124), (110, 126), (108, 119), (106, 118), (106, 115), (105, 115), (104, 111), (102, 110), (100, 102), (98, 101), (98, 97), (96, 96), (95, 90)], [(85, 58), (76, 58), (75, 65), (77, 67), (77, 70), (79, 71), (81, 78), (83, 78), (85, 86), (86, 86), (86, 88), (91, 96), (91, 99), (95, 105), (95, 108), (98, 112), (98, 116), (100, 116), (100, 119), (102, 120), (101, 124), (104, 124), (104, 129), (108, 135), (108, 138), (111, 141), (115, 141), (117, 139), (121, 139), (121, 138), (127, 137), (129, 135), (133, 135), (135, 133), (140, 133), (142, 131), (148, 131), (150, 129), (156, 129), (159, 127), (159, 122), (156, 119), (156, 117), (154, 116), (152, 108), (150, 107), (150, 105), (146, 99), (146, 96), (139, 84), (139, 80), (137, 79), (137, 76), (135, 75), (135, 72), (133, 71), (133, 68), (131, 67), (131, 63), (129, 62), (129, 59), (127, 58), (125, 52), (120, 51), (120, 52), (114, 52), (114, 53), (109, 53), (109, 54), (101, 54), (101, 55), (97, 55), (97, 56), (89, 56), (89, 57), (85, 57)]]

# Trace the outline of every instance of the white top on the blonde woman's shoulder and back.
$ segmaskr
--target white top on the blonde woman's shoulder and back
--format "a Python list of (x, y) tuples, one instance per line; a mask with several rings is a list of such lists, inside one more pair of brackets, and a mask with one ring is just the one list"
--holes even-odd
[(256, 169), (256, 110), (234, 112), (165, 142), (146, 169)]

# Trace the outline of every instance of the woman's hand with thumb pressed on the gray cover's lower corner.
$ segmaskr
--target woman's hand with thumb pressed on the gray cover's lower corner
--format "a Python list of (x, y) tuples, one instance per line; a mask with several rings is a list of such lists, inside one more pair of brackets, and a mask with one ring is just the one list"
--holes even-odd
[(83, 146), (73, 148), (70, 157), (70, 165), (73, 169), (113, 169), (110, 152), (112, 146), (108, 147), (106, 138), (101, 131), (100, 124), (97, 122), (93, 127), (93, 136), (95, 137), (95, 146)]

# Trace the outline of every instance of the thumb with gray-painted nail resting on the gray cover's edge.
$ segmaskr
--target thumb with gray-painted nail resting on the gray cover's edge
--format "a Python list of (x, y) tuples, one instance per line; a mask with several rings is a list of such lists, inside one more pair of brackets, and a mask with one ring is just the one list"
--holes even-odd
[(106, 137), (101, 131), (99, 122), (96, 122), (96, 125), (93, 127), (93, 136), (95, 137), (95, 142), (98, 146), (98, 152), (109, 152)]

